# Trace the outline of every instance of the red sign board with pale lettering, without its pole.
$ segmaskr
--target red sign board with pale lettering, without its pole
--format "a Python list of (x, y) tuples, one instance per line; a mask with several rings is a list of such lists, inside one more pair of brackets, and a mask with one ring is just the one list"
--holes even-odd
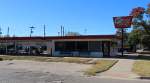
[(131, 27), (132, 18), (132, 16), (113, 17), (115, 28)]

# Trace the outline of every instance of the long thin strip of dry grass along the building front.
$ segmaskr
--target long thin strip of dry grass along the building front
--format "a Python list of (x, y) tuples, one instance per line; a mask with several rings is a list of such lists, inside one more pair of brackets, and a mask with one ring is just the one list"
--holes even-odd
[(68, 62), (68, 63), (81, 63), (87, 64), (92, 59), (82, 58), (63, 58), (63, 57), (39, 57), (39, 56), (0, 56), (2, 60), (32, 60), (41, 62)]

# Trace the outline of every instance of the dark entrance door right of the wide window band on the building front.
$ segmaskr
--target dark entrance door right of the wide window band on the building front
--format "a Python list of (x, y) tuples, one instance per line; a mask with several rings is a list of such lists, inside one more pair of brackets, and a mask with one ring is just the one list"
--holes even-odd
[(102, 51), (103, 51), (103, 57), (110, 57), (110, 42), (109, 41), (102, 42)]

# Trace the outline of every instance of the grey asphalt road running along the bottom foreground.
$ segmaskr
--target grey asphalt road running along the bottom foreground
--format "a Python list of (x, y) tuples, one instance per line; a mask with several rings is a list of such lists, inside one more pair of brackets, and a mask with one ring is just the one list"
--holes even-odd
[(23, 69), (0, 69), (0, 83), (150, 83), (150, 81), (56, 75), (50, 72)]

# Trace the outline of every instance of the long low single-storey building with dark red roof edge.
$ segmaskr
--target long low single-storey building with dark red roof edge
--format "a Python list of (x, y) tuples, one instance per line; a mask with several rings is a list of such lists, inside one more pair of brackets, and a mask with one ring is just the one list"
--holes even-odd
[(117, 53), (115, 35), (1, 37), (0, 54), (110, 57)]

